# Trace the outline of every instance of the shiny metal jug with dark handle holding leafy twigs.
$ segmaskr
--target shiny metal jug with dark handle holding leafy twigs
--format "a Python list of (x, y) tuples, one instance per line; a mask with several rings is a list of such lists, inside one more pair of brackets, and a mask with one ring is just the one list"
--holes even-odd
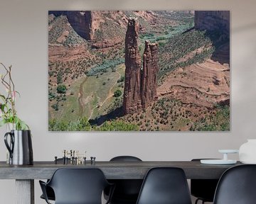
[[(8, 140), (8, 137), (9, 140)], [(33, 149), (30, 130), (11, 130), (4, 135), (4, 143), (10, 153), (9, 164), (33, 164)]]

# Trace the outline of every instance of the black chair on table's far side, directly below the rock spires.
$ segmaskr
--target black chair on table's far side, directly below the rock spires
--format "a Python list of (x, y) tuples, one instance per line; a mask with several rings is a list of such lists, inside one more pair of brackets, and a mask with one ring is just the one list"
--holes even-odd
[[(110, 162), (142, 162), (142, 159), (133, 156), (118, 156), (110, 159)], [(142, 179), (112, 179), (114, 183), (114, 193), (111, 204), (135, 204), (142, 187)], [(105, 191), (105, 198), (109, 195), (109, 190)]]

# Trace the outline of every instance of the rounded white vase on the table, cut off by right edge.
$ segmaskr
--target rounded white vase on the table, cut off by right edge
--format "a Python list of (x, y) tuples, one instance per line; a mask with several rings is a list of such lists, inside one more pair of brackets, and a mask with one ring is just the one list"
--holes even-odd
[(243, 164), (256, 164), (256, 139), (247, 140), (240, 146), (239, 160)]

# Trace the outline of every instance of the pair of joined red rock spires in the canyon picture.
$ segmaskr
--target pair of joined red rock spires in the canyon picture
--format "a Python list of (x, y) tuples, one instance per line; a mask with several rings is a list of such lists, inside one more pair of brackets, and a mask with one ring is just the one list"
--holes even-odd
[(139, 23), (129, 18), (125, 37), (124, 114), (147, 108), (156, 98), (158, 44), (145, 42), (143, 69), (139, 54)]

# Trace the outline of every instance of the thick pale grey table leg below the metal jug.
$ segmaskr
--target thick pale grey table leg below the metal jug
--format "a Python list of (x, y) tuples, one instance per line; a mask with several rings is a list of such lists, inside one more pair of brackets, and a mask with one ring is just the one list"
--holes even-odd
[(35, 204), (34, 180), (16, 179), (16, 204)]

